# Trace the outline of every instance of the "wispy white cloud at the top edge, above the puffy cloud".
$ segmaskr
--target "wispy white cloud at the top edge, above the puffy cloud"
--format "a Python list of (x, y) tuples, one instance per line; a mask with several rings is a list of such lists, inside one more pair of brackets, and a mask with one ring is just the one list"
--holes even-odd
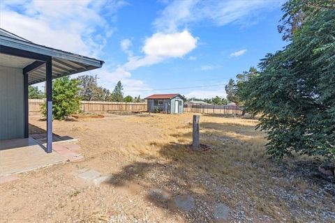
[(193, 22), (208, 20), (217, 26), (231, 22), (250, 23), (262, 10), (281, 6), (283, 0), (174, 0), (165, 7), (154, 21), (158, 31), (176, 31)]

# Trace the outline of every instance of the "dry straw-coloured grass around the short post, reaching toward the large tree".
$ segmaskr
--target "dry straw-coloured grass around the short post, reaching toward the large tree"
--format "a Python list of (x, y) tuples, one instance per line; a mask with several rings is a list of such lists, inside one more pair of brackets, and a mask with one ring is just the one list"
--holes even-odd
[[(170, 117), (155, 114), (151, 118), (133, 116), (126, 121), (158, 126), (163, 133), (163, 138), (153, 139), (149, 145), (130, 146), (124, 151), (127, 157), (140, 155), (151, 161), (155, 159), (183, 170), (187, 169), (191, 172), (190, 175), (198, 174), (200, 178), (209, 176), (215, 181), (210, 187), (224, 186), (232, 191), (229, 198), (227, 194), (211, 194), (230, 206), (235, 206), (236, 203), (248, 198), (246, 200), (248, 204), (245, 203), (245, 205), (251, 205), (256, 211), (275, 220), (283, 220), (283, 218), (290, 222), (308, 220), (305, 218), (307, 216), (297, 216), (292, 212), (292, 203), (287, 200), (290, 196), (285, 196), (295, 193), (304, 194), (311, 190), (318, 192), (320, 185), (311, 183), (314, 179), (308, 181), (302, 176), (294, 178), (297, 176), (295, 172), (288, 172), (286, 175), (283, 173), (283, 167), (289, 171), (295, 171), (301, 160), (313, 161), (306, 157), (298, 157), (298, 161), (287, 158), (283, 164), (269, 160), (265, 154), (266, 135), (255, 130), (258, 121), (201, 116), (200, 142), (211, 147), (211, 150), (206, 152), (192, 151), (189, 146), (192, 138), (190, 114)], [(198, 176), (186, 180), (189, 190), (210, 194), (211, 189), (204, 188), (202, 181), (197, 182)], [(180, 174), (175, 177), (184, 176)], [(334, 203), (334, 200), (329, 199), (329, 203)], [(312, 208), (313, 201), (311, 200), (311, 203), (295, 201), (295, 206)]]

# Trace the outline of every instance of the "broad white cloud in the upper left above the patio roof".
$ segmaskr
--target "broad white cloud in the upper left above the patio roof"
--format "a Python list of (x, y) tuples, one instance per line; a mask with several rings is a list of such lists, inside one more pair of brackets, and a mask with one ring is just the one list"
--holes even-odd
[(40, 45), (96, 57), (113, 31), (102, 11), (114, 15), (123, 6), (121, 2), (3, 1), (0, 26)]

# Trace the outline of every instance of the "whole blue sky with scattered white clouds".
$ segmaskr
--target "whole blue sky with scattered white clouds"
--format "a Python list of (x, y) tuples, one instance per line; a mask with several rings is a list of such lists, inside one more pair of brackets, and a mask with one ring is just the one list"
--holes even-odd
[(4, 0), (0, 26), (34, 43), (102, 59), (103, 68), (87, 74), (98, 75), (107, 89), (121, 80), (125, 95), (211, 98), (225, 96), (230, 78), (287, 44), (276, 31), (282, 3)]

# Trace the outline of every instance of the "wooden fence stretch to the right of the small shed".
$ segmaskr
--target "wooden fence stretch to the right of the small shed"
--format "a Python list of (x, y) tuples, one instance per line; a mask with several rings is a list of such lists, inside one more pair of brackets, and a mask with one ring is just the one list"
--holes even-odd
[(184, 112), (202, 114), (241, 115), (242, 109), (242, 107), (237, 105), (184, 105)]

